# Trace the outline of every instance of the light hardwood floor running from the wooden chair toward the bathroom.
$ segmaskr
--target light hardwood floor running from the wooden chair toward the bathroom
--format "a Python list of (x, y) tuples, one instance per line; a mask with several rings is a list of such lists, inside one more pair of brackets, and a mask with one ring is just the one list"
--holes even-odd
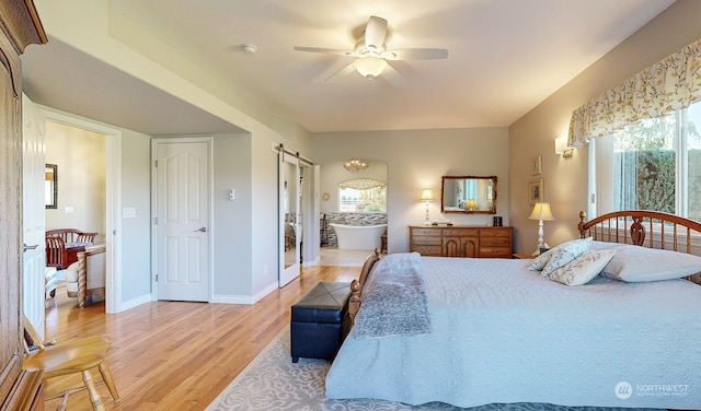
[[(284, 328), (290, 306), (319, 281), (352, 281), (358, 267), (312, 267), (255, 305), (153, 302), (125, 313), (104, 314), (104, 304), (78, 308), (59, 289), (47, 302), (46, 337), (60, 344), (96, 333), (111, 336), (107, 352), (120, 401), (104, 385), (107, 410), (204, 410)], [(291, 360), (290, 360), (291, 361)], [(95, 369), (93, 376), (99, 378)], [(55, 378), (47, 396), (79, 378)], [(55, 410), (58, 400), (46, 402)], [(87, 392), (72, 394), (68, 408), (92, 410)]]

